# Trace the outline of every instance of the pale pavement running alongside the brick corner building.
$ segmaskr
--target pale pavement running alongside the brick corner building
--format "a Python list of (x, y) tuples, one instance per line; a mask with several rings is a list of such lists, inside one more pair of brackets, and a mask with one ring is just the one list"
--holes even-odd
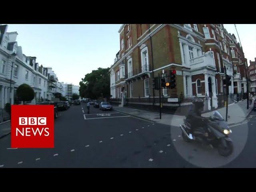
[[(255, 98), (253, 99), (252, 104), (249, 105), (248, 110), (247, 100), (243, 100), (235, 104), (229, 104), (228, 116), (230, 116), (230, 118), (228, 118), (228, 124), (236, 124), (242, 122), (253, 109), (254, 100)], [(159, 119), (159, 112), (151, 112), (147, 110), (140, 110), (128, 107), (114, 107), (114, 110), (131, 116), (136, 116), (146, 120), (151, 120), (154, 122), (172, 126), (179, 126), (180, 124), (183, 124), (183, 120), (186, 118), (185, 116), (162, 113), (162, 119)], [(202, 114), (202, 116), (212, 116), (213, 112), (214, 111), (204, 113)], [(226, 119), (226, 107), (218, 109), (218, 112), (223, 116), (224, 119)]]

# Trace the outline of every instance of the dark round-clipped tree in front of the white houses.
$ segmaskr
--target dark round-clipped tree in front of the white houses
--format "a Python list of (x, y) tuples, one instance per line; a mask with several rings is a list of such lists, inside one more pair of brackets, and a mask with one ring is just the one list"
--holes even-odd
[(16, 91), (19, 100), (26, 102), (32, 101), (35, 97), (34, 90), (28, 84), (21, 84)]

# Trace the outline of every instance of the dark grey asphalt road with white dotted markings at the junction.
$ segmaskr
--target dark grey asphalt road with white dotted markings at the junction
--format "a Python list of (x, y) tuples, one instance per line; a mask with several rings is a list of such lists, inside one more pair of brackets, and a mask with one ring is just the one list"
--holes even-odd
[[(10, 135), (0, 139), (0, 168), (209, 167), (202, 163), (202, 158), (209, 154), (214, 154), (215, 158), (210, 163), (212, 167), (216, 167), (214, 162), (218, 158), (224, 162), (219, 167), (256, 167), (256, 112), (250, 115), (244, 124), (232, 127), (239, 150), (234, 158), (223, 160), (216, 155), (216, 150), (193, 144), (184, 147), (187, 143), (180, 137), (177, 127), (116, 111), (103, 112), (92, 106), (87, 114), (86, 104), (82, 103), (61, 111), (55, 120), (54, 148), (10, 149)], [(247, 131), (244, 131), (246, 126)], [(241, 135), (244, 144), (239, 145)], [(193, 154), (190, 154), (191, 149)]]

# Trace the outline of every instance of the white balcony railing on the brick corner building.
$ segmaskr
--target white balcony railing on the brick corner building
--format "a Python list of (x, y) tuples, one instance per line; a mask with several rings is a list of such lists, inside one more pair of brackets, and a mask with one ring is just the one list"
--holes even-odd
[(215, 68), (214, 58), (211, 52), (206, 52), (202, 56), (190, 59), (191, 68), (199, 68), (204, 66), (212, 66)]

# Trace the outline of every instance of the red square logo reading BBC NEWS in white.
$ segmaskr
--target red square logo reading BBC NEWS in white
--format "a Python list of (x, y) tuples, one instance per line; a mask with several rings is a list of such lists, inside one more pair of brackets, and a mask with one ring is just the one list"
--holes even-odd
[(11, 106), (12, 148), (54, 148), (54, 106)]

